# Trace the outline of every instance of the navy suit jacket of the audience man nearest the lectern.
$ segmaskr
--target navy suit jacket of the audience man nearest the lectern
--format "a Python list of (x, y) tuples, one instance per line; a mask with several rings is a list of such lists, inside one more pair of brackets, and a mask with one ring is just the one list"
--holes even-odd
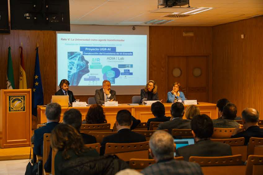
[(44, 133), (51, 133), (51, 131), (58, 125), (58, 122), (47, 123), (46, 126), (35, 129), (34, 131), (34, 149), (33, 152), (35, 155), (43, 156), (43, 136)]

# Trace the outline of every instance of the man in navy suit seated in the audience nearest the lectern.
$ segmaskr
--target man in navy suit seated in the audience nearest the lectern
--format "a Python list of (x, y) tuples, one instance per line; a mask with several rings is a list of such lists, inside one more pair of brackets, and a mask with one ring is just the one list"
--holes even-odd
[[(34, 131), (34, 154), (43, 156), (43, 136), (44, 133), (51, 133), (56, 125), (59, 124), (61, 107), (58, 103), (49, 103), (46, 107), (47, 125)], [(51, 154), (48, 159), (51, 159)], [(50, 164), (50, 165), (49, 165)], [(51, 163), (45, 164), (45, 170), (51, 171)]]

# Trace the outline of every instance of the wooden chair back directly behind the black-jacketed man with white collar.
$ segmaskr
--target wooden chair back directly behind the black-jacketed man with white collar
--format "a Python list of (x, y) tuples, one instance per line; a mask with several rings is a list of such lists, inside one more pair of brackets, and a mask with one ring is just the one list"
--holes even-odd
[(149, 142), (137, 143), (106, 143), (105, 155), (116, 154), (120, 159), (148, 159)]

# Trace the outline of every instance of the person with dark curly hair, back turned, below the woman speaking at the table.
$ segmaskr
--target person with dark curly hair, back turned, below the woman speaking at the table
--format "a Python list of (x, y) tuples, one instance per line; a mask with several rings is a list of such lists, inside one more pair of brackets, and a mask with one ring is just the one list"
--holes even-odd
[(165, 121), (169, 121), (171, 117), (166, 117), (165, 116), (165, 108), (163, 103), (161, 102), (155, 102), (152, 104), (151, 106), (151, 111), (153, 113), (153, 115), (155, 116), (154, 118), (150, 118), (148, 119), (146, 126), (147, 129), (149, 130), (150, 127), (150, 123), (153, 122), (165, 122)]

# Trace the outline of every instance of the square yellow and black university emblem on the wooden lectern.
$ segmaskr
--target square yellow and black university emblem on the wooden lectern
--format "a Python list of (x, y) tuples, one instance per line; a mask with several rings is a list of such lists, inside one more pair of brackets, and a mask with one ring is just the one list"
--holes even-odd
[(8, 96), (8, 112), (25, 111), (25, 95)]

